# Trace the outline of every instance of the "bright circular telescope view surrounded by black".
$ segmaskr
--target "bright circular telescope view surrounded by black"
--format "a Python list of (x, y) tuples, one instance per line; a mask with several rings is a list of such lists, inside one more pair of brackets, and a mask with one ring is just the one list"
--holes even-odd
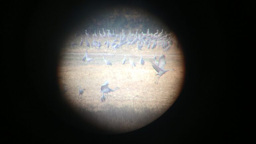
[(60, 53), (64, 100), (109, 134), (156, 120), (179, 97), (184, 82), (184, 55), (172, 29), (150, 12), (131, 7), (84, 19)]

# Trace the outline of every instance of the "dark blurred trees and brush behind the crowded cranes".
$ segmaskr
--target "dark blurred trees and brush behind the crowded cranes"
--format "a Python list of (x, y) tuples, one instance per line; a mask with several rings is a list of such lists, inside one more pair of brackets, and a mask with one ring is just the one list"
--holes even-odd
[[(128, 7), (119, 7), (115, 9), (103, 9), (97, 11), (96, 13), (92, 12), (89, 17), (85, 18), (85, 24), (83, 26), (83, 32), (87, 30), (87, 33), (93, 34), (96, 30), (96, 34), (99, 34), (99, 30), (102, 32), (102, 28), (107, 33), (107, 30), (110, 30), (111, 33), (119, 34), (122, 32), (122, 29), (126, 34), (131, 31), (135, 33), (136, 29), (138, 32), (147, 33), (156, 33), (158, 30), (159, 33), (162, 31), (169, 33), (169, 28), (161, 22), (157, 17), (137, 8), (128, 8)], [(103, 33), (102, 33), (103, 34)]]

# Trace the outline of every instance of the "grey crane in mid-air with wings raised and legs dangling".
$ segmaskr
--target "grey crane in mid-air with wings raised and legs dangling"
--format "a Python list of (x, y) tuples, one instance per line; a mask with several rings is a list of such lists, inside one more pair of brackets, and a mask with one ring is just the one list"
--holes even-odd
[(157, 77), (156, 84), (158, 84), (158, 80), (159, 80), (159, 78), (160, 78), (163, 74), (165, 74), (166, 72), (168, 72), (168, 71), (170, 71), (170, 70), (174, 70), (174, 69), (167, 69), (167, 70), (164, 69), (165, 64), (166, 64), (165, 55), (160, 56), (157, 65), (153, 62), (153, 60), (151, 60), (150, 62), (151, 62), (151, 64), (152, 64), (153, 68), (158, 72), (156, 75), (159, 75), (159, 76)]

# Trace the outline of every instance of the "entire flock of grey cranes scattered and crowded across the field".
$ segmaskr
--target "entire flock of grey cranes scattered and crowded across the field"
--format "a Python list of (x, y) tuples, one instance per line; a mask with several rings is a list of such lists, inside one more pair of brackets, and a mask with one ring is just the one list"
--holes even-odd
[[(99, 36), (101, 38), (107, 38), (107, 41), (104, 42), (104, 44), (106, 45), (107, 48), (109, 48), (111, 46), (111, 48), (113, 48), (114, 50), (121, 48), (123, 45), (127, 44), (127, 45), (133, 45), (137, 42), (137, 48), (138, 50), (142, 50), (143, 45), (146, 45), (148, 49), (153, 49), (155, 48), (157, 45), (159, 45), (159, 43), (161, 43), (163, 51), (168, 51), (172, 45), (172, 38), (170, 34), (163, 34), (163, 30), (161, 33), (158, 33), (158, 30), (155, 34), (150, 34), (149, 33), (149, 29), (147, 30), (146, 34), (143, 34), (143, 32), (141, 34), (138, 34), (138, 30), (136, 30), (135, 34), (131, 34), (131, 32), (129, 32), (128, 35), (125, 35), (124, 30), (122, 30), (122, 33), (120, 34), (114, 34), (114, 30), (113, 33), (110, 33), (110, 30), (107, 30), (108, 33), (106, 34), (104, 29), (103, 29), (103, 34), (101, 34), (101, 31), (99, 31)], [(91, 37), (88, 33), (87, 30), (85, 30), (85, 35), (86, 37)], [(100, 47), (102, 46), (102, 44), (100, 43), (99, 40), (99, 36), (96, 34), (96, 31), (94, 32), (94, 34), (92, 35), (93, 37), (93, 41), (91, 44), (89, 44), (89, 42), (87, 41), (86, 37), (85, 37), (85, 44), (87, 47), (96, 47), (97, 49), (100, 49)], [(95, 41), (95, 38), (98, 38), (98, 41)], [(110, 38), (114, 38), (113, 42), (110, 42), (109, 39)], [(119, 40), (117, 39), (119, 38)], [(116, 43), (119, 42), (119, 43)], [(151, 45), (152, 43), (152, 45)], [(73, 42), (71, 43), (71, 46), (77, 45), (77, 43)], [(81, 42), (80, 42), (80, 46), (83, 45), (83, 38), (81, 38)], [(124, 65), (126, 63), (126, 55), (124, 55), (124, 59), (122, 61), (122, 64)], [(88, 52), (87, 50), (85, 51), (85, 55), (82, 58), (83, 61), (86, 61), (86, 64), (90, 61), (92, 61), (93, 59), (90, 58), (88, 56)], [(105, 59), (105, 55), (103, 54), (103, 60), (106, 63), (106, 65), (110, 65), (112, 66), (112, 63), (108, 60)], [(142, 58), (142, 54), (140, 54), (140, 64), (144, 65), (145, 61)], [(129, 56), (129, 63), (131, 65), (131, 67), (135, 67), (135, 63), (130, 59)], [(156, 84), (158, 84), (158, 80), (159, 78), (165, 74), (166, 72), (170, 71), (170, 70), (174, 70), (174, 69), (167, 69), (165, 70), (165, 55), (160, 56), (159, 60), (156, 61), (156, 54), (154, 55), (154, 57), (152, 59), (150, 59), (150, 63), (152, 64), (152, 67), (157, 71), (158, 77), (156, 80)], [(107, 98), (108, 98), (108, 93), (109, 92), (114, 92), (118, 89), (118, 87), (116, 87), (114, 90), (110, 89), (108, 87), (109, 82), (105, 81), (104, 84), (101, 86), (101, 91), (102, 92), (102, 97), (101, 97), (101, 102), (104, 102), (105, 96), (104, 93), (107, 94)], [(77, 86), (79, 87), (79, 96), (82, 95), (84, 93), (85, 89), (81, 89), (81, 86)]]

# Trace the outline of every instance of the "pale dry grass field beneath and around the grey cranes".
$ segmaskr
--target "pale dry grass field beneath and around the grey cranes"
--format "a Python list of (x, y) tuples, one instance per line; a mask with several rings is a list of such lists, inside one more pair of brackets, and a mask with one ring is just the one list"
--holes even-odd
[[(80, 43), (80, 38), (75, 42)], [(91, 42), (91, 39), (88, 39)], [(93, 124), (100, 129), (112, 133), (124, 133), (141, 128), (159, 116), (161, 116), (178, 98), (184, 81), (185, 65), (181, 48), (177, 48), (174, 41), (168, 52), (163, 52), (158, 45), (154, 49), (142, 50), (137, 45), (123, 45), (117, 50), (106, 48), (104, 39), (98, 50), (95, 47), (80, 46), (70, 47), (69, 42), (63, 48), (58, 66), (60, 86), (65, 84), (67, 91), (65, 100)], [(82, 61), (85, 50), (93, 60), (87, 65)], [(174, 69), (162, 75), (158, 84), (155, 84), (157, 76), (149, 60), (157, 52), (157, 60), (160, 52), (166, 55), (165, 69)], [(103, 60), (112, 63), (107, 66)], [(126, 54), (126, 64), (122, 60)], [(139, 64), (140, 54), (145, 65)], [(136, 67), (129, 64), (129, 56), (135, 62)], [(109, 81), (109, 87), (115, 92), (110, 92), (105, 102), (101, 102), (101, 85)], [(78, 85), (85, 89), (82, 99), (78, 92)]]

